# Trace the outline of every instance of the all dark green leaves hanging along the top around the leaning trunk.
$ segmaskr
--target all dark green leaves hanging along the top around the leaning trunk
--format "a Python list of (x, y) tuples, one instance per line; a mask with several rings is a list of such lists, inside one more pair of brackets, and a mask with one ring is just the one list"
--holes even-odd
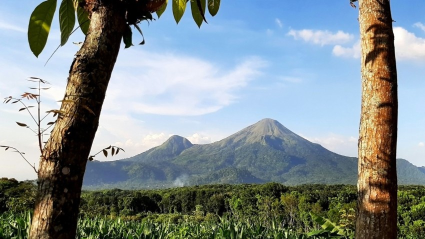
[[(32, 53), (38, 57), (43, 50), (47, 37), (50, 32), (51, 22), (56, 10), (58, 0), (45, 0), (38, 4), (32, 11), (28, 24), (28, 43)], [(172, 14), (175, 22), (178, 23), (183, 16), (187, 3), (190, 1), (190, 8), (193, 20), (200, 27), (203, 21), (208, 23), (205, 18), (205, 11), (211, 16), (218, 12), (220, 0), (170, 0), (172, 5)], [(352, 0), (351, 0), (352, 1)], [(72, 28), (77, 20), (84, 34), (87, 34), (90, 24), (89, 12), (93, 6), (88, 1), (84, 0), (61, 0), (59, 6), (59, 28), (60, 28), (60, 45), (64, 45), (72, 34)], [(123, 33), (123, 42), (125, 48), (132, 46), (132, 31), (133, 25), (141, 34), (143, 40), (139, 44), (144, 44), (143, 33), (138, 26), (143, 20), (149, 22), (154, 18), (152, 13), (155, 12), (158, 18), (165, 11), (168, 5), (168, 0), (125, 0), (123, 1), (126, 7), (125, 19), (127, 27)], [(76, 17), (75, 17), (76, 15)], [(56, 48), (57, 50), (57, 48)], [(54, 51), (56, 51), (54, 50)], [(54, 54), (54, 52), (53, 52)], [(51, 57), (51, 56), (50, 56)], [(50, 59), (50, 58), (49, 58)], [(48, 60), (47, 60), (48, 61)], [(47, 63), (47, 62), (46, 62)]]

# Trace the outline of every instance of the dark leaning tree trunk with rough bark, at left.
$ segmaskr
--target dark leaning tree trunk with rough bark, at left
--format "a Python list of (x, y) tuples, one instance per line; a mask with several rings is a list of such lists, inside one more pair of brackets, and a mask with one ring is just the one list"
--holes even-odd
[(56, 125), (38, 169), (29, 238), (75, 238), (82, 178), (125, 29), (120, 0), (87, 0), (91, 22), (74, 58)]

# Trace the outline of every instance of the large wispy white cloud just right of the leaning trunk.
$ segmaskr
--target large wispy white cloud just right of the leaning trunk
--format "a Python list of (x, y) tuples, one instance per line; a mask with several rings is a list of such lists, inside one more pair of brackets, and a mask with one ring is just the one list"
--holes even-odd
[[(207, 60), (126, 51), (118, 61), (104, 108), (160, 115), (201, 115), (215, 112), (238, 98), (238, 91), (261, 74), (265, 62), (242, 60), (230, 69)], [(143, 55), (143, 60), (139, 60)]]

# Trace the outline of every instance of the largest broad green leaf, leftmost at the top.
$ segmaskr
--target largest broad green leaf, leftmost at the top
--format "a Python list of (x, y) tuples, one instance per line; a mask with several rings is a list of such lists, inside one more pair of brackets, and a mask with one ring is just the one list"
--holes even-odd
[(47, 42), (55, 10), (56, 0), (46, 0), (36, 6), (31, 13), (28, 24), (28, 43), (36, 57), (41, 53)]

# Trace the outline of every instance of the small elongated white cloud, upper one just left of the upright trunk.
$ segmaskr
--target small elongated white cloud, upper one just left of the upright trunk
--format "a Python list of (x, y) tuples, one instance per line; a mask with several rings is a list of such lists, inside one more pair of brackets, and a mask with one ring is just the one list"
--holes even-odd
[(288, 35), (293, 36), (295, 40), (302, 39), (305, 42), (310, 42), (318, 45), (341, 44), (350, 41), (354, 36), (338, 30), (332, 33), (328, 30), (289, 30)]

